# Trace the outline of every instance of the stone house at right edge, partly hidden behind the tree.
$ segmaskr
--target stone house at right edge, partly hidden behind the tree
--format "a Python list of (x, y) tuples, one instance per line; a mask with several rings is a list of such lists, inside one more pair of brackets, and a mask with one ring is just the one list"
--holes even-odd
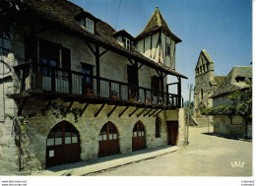
[[(233, 67), (224, 79), (223, 84), (214, 93), (213, 98), (214, 107), (224, 104), (231, 104), (228, 96), (239, 90), (246, 90), (252, 82), (252, 67)], [(244, 120), (240, 116), (232, 118), (232, 124), (226, 116), (214, 116), (214, 132), (233, 138), (242, 138), (244, 136)], [(248, 137), (252, 135), (251, 123), (249, 125)]]

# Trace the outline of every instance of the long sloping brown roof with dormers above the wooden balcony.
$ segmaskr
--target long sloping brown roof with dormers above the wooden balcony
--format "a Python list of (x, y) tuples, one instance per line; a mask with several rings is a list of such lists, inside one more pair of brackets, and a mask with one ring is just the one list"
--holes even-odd
[[(139, 60), (152, 68), (161, 69), (167, 74), (187, 79), (187, 77), (170, 69), (169, 67), (159, 65), (155, 61), (145, 57), (136, 49), (125, 49), (113, 36), (113, 33), (116, 31), (111, 26), (97, 19), (87, 10), (82, 9), (81, 7), (67, 0), (24, 0), (23, 4), (28, 8), (29, 14), (38, 16), (49, 23), (60, 26), (67, 31), (71, 31), (72, 33), (85, 38), (90, 42), (96, 42), (100, 46), (111, 51), (115, 51), (120, 55)], [(83, 28), (76, 20), (77, 16), (81, 14), (88, 14), (90, 17), (95, 18), (95, 34), (86, 31), (85, 28)]]

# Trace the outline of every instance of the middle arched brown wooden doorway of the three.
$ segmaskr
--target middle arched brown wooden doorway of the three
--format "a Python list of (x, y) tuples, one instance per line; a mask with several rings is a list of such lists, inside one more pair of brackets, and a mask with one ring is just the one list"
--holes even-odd
[(115, 125), (108, 121), (103, 125), (98, 135), (98, 156), (119, 154), (119, 139)]

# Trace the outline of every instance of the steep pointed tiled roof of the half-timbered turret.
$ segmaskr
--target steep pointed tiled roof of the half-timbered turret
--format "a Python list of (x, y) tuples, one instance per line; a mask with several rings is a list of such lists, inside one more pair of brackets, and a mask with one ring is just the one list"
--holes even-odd
[(166, 31), (169, 35), (171, 35), (174, 38), (174, 40), (176, 40), (176, 43), (182, 41), (179, 37), (177, 37), (173, 32), (170, 31), (170, 29), (168, 28), (168, 25), (166, 24), (165, 20), (161, 16), (160, 10), (158, 7), (156, 7), (156, 10), (154, 11), (145, 29), (136, 36), (136, 40), (146, 37), (151, 33), (160, 31), (161, 29), (163, 31)]

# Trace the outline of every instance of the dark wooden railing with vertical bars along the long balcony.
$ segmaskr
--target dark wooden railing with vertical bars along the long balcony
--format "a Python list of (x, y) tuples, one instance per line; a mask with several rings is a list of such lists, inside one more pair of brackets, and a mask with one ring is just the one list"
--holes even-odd
[(21, 82), (18, 93), (41, 90), (144, 102), (171, 108), (182, 105), (181, 95), (178, 94), (162, 93), (44, 64), (26, 63), (15, 67), (15, 70)]

